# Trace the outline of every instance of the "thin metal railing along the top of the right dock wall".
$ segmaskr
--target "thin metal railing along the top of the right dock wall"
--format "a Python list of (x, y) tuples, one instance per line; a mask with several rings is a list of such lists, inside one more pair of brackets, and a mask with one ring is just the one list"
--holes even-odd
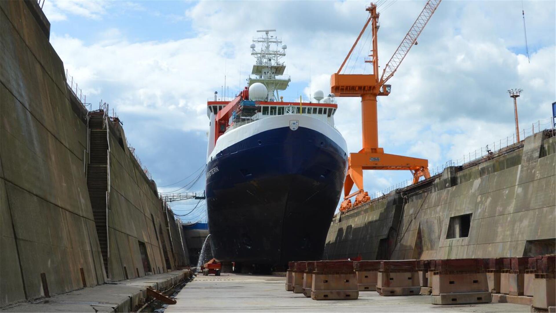
[[(519, 143), (517, 142), (517, 138), (515, 134), (508, 135), (505, 138), (495, 140), (492, 143), (488, 143), (485, 146), (475, 149), (474, 151), (470, 151), (466, 154), (463, 154), (461, 155), (461, 158), (448, 160), (444, 164), (429, 166), (430, 175), (434, 176), (434, 175), (441, 174), (444, 172), (444, 169), (448, 167), (459, 167), (459, 166), (463, 168), (471, 167), (477, 163), (483, 162), (484, 160), (492, 159), (495, 156), (508, 153), (509, 151), (512, 151), (514, 149), (518, 149), (523, 143), (523, 140), (525, 140), (525, 138), (530, 135), (542, 133), (547, 129), (554, 129), (554, 123), (552, 121), (552, 118), (545, 119), (545, 120), (538, 120), (537, 122), (531, 123), (529, 125), (531, 125), (531, 127), (523, 128), (519, 131), (519, 136), (520, 136)], [(395, 185), (391, 185), (388, 188), (378, 190), (372, 194), (369, 193), (369, 196), (371, 199), (384, 197), (385, 195), (389, 194), (392, 190), (409, 187), (412, 184), (413, 184), (413, 178), (404, 180)]]

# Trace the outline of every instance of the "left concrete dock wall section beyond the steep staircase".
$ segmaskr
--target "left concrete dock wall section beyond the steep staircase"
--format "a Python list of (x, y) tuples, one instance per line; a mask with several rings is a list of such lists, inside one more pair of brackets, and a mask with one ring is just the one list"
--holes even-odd
[(165, 227), (166, 213), (162, 211), (156, 187), (127, 147), (121, 126), (109, 123), (112, 131), (109, 143), (108, 277), (122, 280), (146, 274), (140, 242), (147, 248), (151, 272), (172, 270), (175, 265)]

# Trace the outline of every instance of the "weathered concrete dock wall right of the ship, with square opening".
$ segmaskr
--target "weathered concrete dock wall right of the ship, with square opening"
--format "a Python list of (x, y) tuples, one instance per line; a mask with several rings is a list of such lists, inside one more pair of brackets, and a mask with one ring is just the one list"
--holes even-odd
[[(469, 167), (337, 214), (324, 258), (488, 258), (555, 253), (556, 138), (545, 131)], [(401, 208), (398, 204), (402, 203)]]

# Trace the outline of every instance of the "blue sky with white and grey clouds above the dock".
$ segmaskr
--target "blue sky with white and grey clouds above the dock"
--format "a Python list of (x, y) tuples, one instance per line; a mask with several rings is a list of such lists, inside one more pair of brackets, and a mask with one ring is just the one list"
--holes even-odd
[[(556, 100), (555, 3), (523, 2), (529, 63), (522, 2), (443, 1), (389, 81), (392, 94), (379, 99), (380, 146), (387, 153), (427, 158), (431, 168), (461, 162), (463, 155), (512, 136), (513, 105), (506, 90), (514, 87), (524, 89), (521, 128), (538, 120), (548, 127), (550, 103)], [(327, 92), (330, 74), (363, 26), (366, 4), (46, 0), (43, 9), (51, 43), (87, 101), (110, 103), (129, 144), (163, 186), (205, 163), (206, 100), (220, 92), (224, 75), (230, 93), (243, 86), (257, 29), (276, 28), (288, 46), (284, 60), (292, 82), (286, 97)], [(425, 1), (380, 4), (384, 66)], [(358, 61), (367, 48), (355, 50)], [(357, 151), (360, 105), (351, 98), (338, 102), (336, 127)], [(407, 172), (366, 172), (365, 189), (376, 192), (409, 178)], [(191, 188), (202, 189), (203, 179)], [(195, 203), (176, 203), (173, 209), (188, 212)], [(184, 219), (203, 215), (201, 207)]]

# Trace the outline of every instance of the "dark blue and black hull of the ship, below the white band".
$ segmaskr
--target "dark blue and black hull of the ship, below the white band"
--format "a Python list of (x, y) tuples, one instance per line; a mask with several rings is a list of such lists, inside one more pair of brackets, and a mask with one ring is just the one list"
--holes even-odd
[(282, 266), (320, 260), (345, 178), (347, 155), (309, 128), (267, 130), (207, 164), (214, 257)]

